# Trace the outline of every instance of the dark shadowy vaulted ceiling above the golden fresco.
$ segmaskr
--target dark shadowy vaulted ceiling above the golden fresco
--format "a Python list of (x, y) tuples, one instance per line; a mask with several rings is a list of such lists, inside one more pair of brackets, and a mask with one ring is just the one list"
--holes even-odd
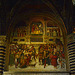
[(15, 15), (28, 14), (30, 12), (49, 12), (59, 15), (63, 19), (67, 30), (69, 30), (72, 28), (70, 27), (70, 25), (72, 26), (70, 21), (70, 18), (72, 18), (72, 13), (70, 12), (72, 10), (71, 3), (71, 0), (1, 0), (1, 19), (3, 21), (1, 28), (4, 28), (4, 30), (1, 29), (1, 32), (2, 34), (6, 34), (5, 31), (9, 27), (10, 19)]

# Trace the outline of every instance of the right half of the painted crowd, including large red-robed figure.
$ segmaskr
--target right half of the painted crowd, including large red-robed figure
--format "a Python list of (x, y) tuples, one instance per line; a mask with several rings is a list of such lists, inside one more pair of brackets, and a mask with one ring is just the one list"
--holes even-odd
[(50, 44), (41, 45), (39, 47), (39, 62), (44, 65), (44, 68), (46, 64), (53, 65), (55, 68), (60, 64), (61, 68), (64, 68), (65, 56), (63, 47), (58, 48), (56, 45)]

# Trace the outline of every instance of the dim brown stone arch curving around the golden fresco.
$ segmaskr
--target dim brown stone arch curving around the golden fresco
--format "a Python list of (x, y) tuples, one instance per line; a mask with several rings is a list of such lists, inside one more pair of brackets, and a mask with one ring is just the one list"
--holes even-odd
[[(42, 1), (44, 1), (44, 0), (42, 0)], [(45, 2), (45, 1), (44, 1)], [(20, 3), (20, 2), (19, 2)], [(17, 7), (19, 6), (19, 3), (17, 4)], [(24, 3), (23, 3), (24, 4)], [(53, 7), (53, 5), (50, 3), (50, 5), (48, 4), (48, 3), (46, 3), (47, 4), (47, 6), (48, 7), (50, 7), (51, 9), (52, 9), (52, 11), (54, 12), (54, 13), (50, 13), (50, 12), (42, 12), (42, 13), (34, 13), (33, 11), (32, 12), (30, 12), (30, 13), (32, 13), (32, 14), (30, 14), (30, 13), (27, 13), (27, 14), (25, 14), (25, 13), (22, 13), (22, 14), (18, 14), (17, 13), (17, 15), (16, 14), (14, 14), (14, 12), (16, 12), (15, 11), (15, 9), (16, 9), (16, 6), (13, 8), (13, 10), (11, 11), (11, 20), (10, 20), (10, 26), (9, 26), (9, 30), (8, 30), (8, 33), (7, 33), (7, 40), (8, 40), (8, 44), (10, 44), (9, 42), (10, 42), (10, 33), (11, 33), (11, 31), (14, 29), (14, 27), (15, 27), (15, 25), (17, 24), (17, 22), (18, 21), (24, 21), (25, 22), (25, 20), (27, 21), (27, 20), (29, 20), (29, 18), (30, 17), (36, 17), (36, 16), (38, 16), (38, 17), (42, 17), (42, 18), (44, 18), (44, 21), (46, 21), (47, 19), (50, 19), (52, 22), (53, 22), (53, 24), (57, 24), (60, 28), (61, 28), (61, 30), (62, 30), (62, 32), (63, 32), (63, 39), (64, 39), (64, 46), (66, 45), (66, 34), (67, 34), (67, 30), (66, 30), (66, 28), (65, 28), (65, 24), (64, 24), (64, 22), (63, 22), (63, 20), (62, 20), (62, 18), (60, 17), (60, 15), (57, 13), (57, 11), (56, 11), (56, 9)], [(23, 5), (22, 5), (23, 6)], [(13, 17), (12, 17), (13, 16)], [(19, 17), (20, 17), (20, 19), (19, 19)], [(25, 19), (25, 20), (24, 20)], [(11, 30), (11, 31), (10, 31)], [(8, 48), (7, 48), (8, 50), (7, 50), (7, 52), (9, 52), (9, 45), (8, 45)], [(66, 52), (67, 52), (67, 49), (66, 49), (66, 46), (65, 46), (65, 50), (66, 50)], [(65, 53), (66, 53), (65, 52)], [(9, 61), (9, 54), (7, 53), (6, 54), (7, 55), (7, 60)], [(65, 56), (67, 57), (67, 55), (65, 54)], [(68, 60), (68, 57), (66, 58), (66, 61)], [(67, 62), (68, 63), (68, 62)], [(9, 63), (6, 63), (6, 67), (8, 67), (8, 64)], [(67, 65), (67, 68), (68, 68), (68, 65)], [(67, 69), (68, 70), (68, 69)]]

